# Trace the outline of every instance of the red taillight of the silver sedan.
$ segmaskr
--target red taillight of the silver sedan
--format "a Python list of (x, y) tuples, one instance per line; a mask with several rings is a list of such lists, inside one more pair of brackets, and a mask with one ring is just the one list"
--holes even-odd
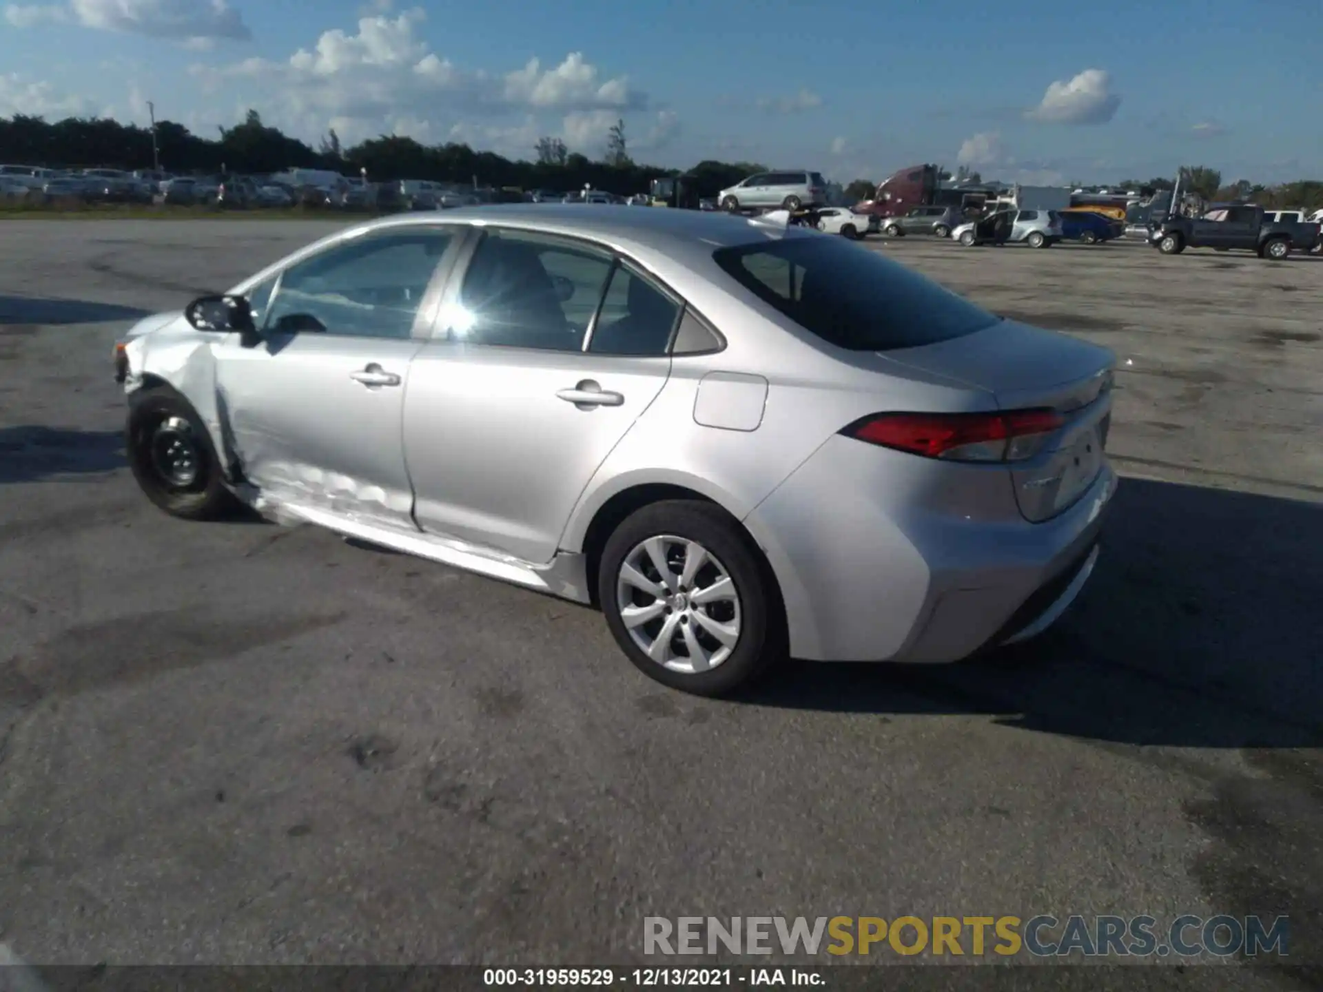
[(889, 413), (865, 417), (843, 434), (884, 448), (955, 462), (1031, 458), (1065, 418), (1056, 410), (975, 414)]

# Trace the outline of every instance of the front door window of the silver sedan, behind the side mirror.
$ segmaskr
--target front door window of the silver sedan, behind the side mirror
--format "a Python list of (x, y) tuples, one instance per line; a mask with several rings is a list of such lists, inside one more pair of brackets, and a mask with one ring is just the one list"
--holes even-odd
[(410, 229), (366, 235), (284, 270), (265, 327), (351, 337), (406, 339), (454, 231)]

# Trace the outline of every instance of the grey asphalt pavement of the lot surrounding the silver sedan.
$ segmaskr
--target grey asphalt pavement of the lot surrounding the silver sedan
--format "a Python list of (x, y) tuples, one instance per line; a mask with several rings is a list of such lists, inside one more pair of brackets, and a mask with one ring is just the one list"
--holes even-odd
[(590, 610), (139, 495), (115, 335), (332, 227), (0, 222), (13, 954), (624, 964), (652, 915), (1289, 914), (1323, 964), (1323, 263), (878, 242), (1117, 351), (1103, 556), (1035, 644), (716, 702)]

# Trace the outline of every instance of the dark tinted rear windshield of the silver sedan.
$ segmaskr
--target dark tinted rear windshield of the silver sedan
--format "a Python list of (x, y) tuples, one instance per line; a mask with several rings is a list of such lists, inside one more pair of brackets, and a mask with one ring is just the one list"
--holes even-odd
[(830, 237), (724, 247), (736, 282), (828, 344), (885, 352), (982, 331), (996, 316), (877, 251)]

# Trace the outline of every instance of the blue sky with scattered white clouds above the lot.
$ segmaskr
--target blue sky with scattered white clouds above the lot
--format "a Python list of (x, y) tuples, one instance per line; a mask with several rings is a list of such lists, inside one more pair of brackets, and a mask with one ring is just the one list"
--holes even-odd
[(312, 140), (464, 140), (1023, 183), (1323, 176), (1318, 0), (0, 0), (0, 115), (255, 107)]

